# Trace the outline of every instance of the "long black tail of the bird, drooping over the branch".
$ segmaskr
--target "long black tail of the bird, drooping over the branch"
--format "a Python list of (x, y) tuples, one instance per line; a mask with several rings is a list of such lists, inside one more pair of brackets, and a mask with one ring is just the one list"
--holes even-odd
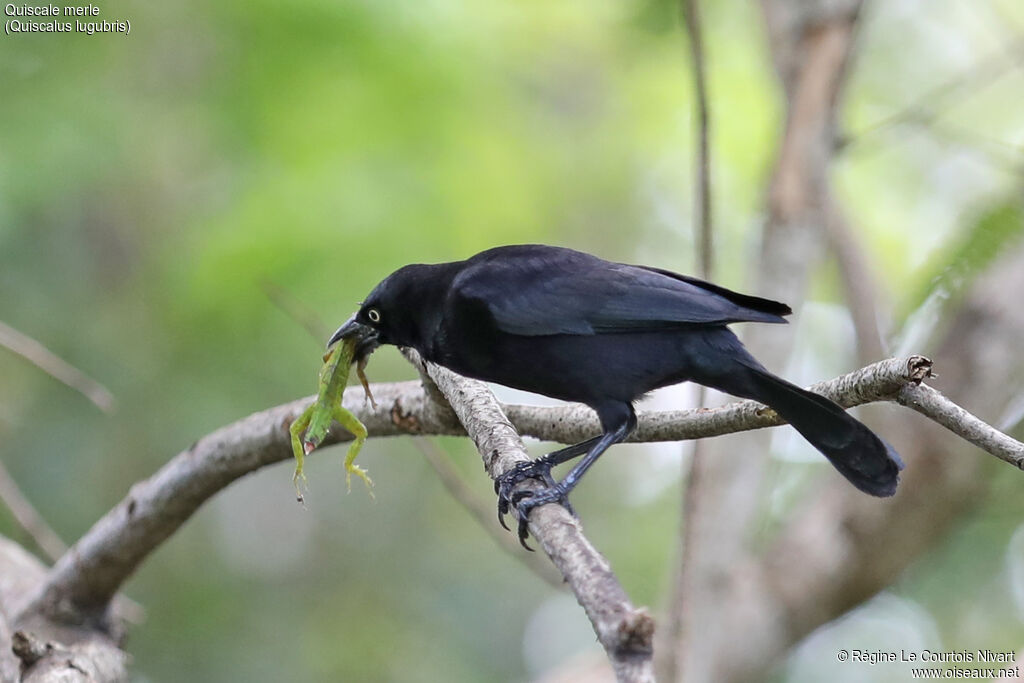
[[(729, 374), (729, 393), (759, 400), (820, 451), (854, 486), (871, 496), (896, 493), (903, 461), (888, 443), (824, 396), (772, 375), (752, 357)], [(721, 384), (716, 382), (715, 384)]]

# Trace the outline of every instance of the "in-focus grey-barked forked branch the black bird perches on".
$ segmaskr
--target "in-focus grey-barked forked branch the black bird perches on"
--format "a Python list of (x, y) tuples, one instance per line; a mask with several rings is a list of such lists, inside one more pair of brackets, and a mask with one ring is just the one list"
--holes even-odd
[[(502, 405), (481, 383), (410, 355), (425, 381), (374, 385), (377, 408), (366, 403), (361, 392), (345, 393), (346, 408), (373, 436), (468, 434), (494, 477), (527, 458), (519, 434), (574, 442), (599, 431), (596, 419), (584, 407)], [(919, 386), (930, 368), (923, 356), (893, 358), (811, 388), (845, 407), (916, 400), (923, 410), (939, 405), (946, 415), (953, 415), (955, 407), (937, 392)], [(245, 474), (291, 460), (288, 426), (310, 400), (279, 405), (223, 427), (201, 438), (150, 479), (135, 484), (125, 500), (39, 582), (6, 597), (4, 604), (11, 607), (6, 612), (8, 624), (37, 633), (37, 640), (62, 643), (62, 647), (77, 640), (67, 642), (50, 635), (47, 625), (63, 635), (69, 626), (87, 633), (111, 630), (108, 605), (119, 587), (207, 499)], [(985, 432), (981, 439), (972, 436), (983, 447), (1001, 444), (994, 450), (1004, 455), (1020, 454), (1024, 447), (993, 434), (987, 425), (964, 418), (958, 415), (947, 421), (962, 425), (965, 434), (968, 430), (972, 434)], [(777, 424), (781, 424), (778, 416), (769, 409), (740, 401), (708, 411), (641, 414), (632, 440), (701, 438)], [(339, 430), (332, 432), (328, 442), (350, 438)], [(521, 485), (538, 484), (525, 481)], [(580, 522), (560, 506), (547, 505), (530, 516), (530, 531), (584, 606), (620, 680), (650, 680), (653, 623), (643, 609), (630, 603), (607, 562), (583, 536)]]

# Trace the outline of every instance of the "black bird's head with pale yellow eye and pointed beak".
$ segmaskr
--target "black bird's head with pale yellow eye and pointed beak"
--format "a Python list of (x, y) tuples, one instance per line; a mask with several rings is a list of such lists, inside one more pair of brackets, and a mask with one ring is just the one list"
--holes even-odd
[[(431, 336), (431, 312), (440, 303), (431, 278), (434, 265), (407, 265), (388, 275), (334, 333), (328, 346), (352, 335), (361, 337), (356, 359), (381, 344), (422, 349)], [(372, 344), (372, 345), (371, 345)]]

